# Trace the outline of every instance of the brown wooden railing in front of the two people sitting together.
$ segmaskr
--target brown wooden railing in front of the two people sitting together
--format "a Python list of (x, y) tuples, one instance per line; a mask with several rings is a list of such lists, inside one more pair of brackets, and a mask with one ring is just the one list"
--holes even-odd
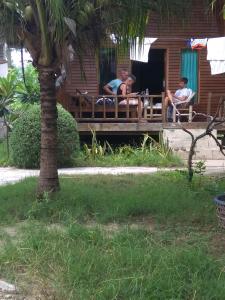
[[(67, 109), (78, 122), (165, 122), (165, 94), (137, 95), (124, 99), (122, 96), (70, 96)], [(101, 100), (100, 100), (101, 99)], [(125, 104), (121, 104), (126, 100)], [(136, 104), (134, 104), (136, 101)]]

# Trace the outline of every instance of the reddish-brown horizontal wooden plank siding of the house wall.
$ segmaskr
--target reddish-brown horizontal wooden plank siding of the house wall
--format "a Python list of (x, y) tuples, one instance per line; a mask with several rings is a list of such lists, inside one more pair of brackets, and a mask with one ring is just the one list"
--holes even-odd
[[(181, 20), (163, 20), (158, 15), (150, 15), (149, 25), (146, 36), (157, 37), (158, 40), (152, 45), (152, 49), (166, 49), (166, 88), (171, 91), (177, 89), (177, 83), (180, 78), (181, 69), (181, 50), (187, 48), (187, 39), (218, 37), (221, 35), (221, 26), (218, 26), (218, 20), (212, 14), (204, 12), (203, 3), (205, 0), (194, 0), (190, 15), (186, 16), (184, 24)], [(225, 74), (211, 75), (210, 64), (206, 60), (207, 50), (199, 51), (199, 93), (198, 104), (195, 110), (200, 112), (207, 111), (208, 93), (225, 92)], [(98, 59), (95, 55), (85, 55), (83, 59), (83, 68), (86, 74), (86, 81), (81, 77), (79, 61), (75, 57), (71, 62), (70, 75), (66, 81), (64, 91), (61, 92), (61, 103), (67, 108), (68, 103), (66, 95), (76, 93), (76, 88), (81, 91), (88, 91), (92, 95), (99, 93), (99, 74)], [(131, 61), (129, 55), (117, 58), (117, 71), (121, 68), (131, 70)], [(216, 110), (217, 101), (212, 101), (212, 113)]]

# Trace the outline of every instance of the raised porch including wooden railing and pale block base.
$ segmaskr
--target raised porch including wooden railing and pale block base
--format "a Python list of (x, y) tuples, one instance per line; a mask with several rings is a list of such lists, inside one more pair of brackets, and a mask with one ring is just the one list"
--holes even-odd
[[(177, 153), (182, 159), (187, 159), (190, 150), (191, 138), (183, 131), (186, 128), (192, 132), (194, 136), (202, 134), (208, 125), (209, 118), (213, 116), (217, 110), (218, 103), (220, 110), (218, 117), (224, 119), (225, 95), (209, 93), (207, 101), (207, 111), (202, 112), (199, 108), (199, 114), (195, 113), (198, 107), (188, 103), (183, 108), (181, 123), (176, 121), (166, 121), (166, 108), (164, 93), (161, 95), (139, 95), (136, 96), (136, 105), (131, 105), (127, 98), (125, 105), (120, 105), (120, 97), (111, 97), (113, 102), (109, 102), (108, 96), (89, 96), (87, 94), (76, 95), (70, 98), (70, 108), (68, 109), (77, 120), (78, 131), (85, 138), (90, 137), (94, 131), (98, 136), (109, 136), (115, 138), (121, 137), (125, 140), (129, 137), (140, 137), (142, 134), (158, 137), (161, 135), (168, 146)], [(100, 100), (100, 101), (99, 101)], [(190, 109), (191, 107), (191, 109)], [(191, 114), (191, 116), (190, 116)], [(197, 116), (196, 118), (193, 118)], [(204, 121), (203, 121), (204, 120)], [(216, 126), (214, 135), (225, 142), (225, 122), (221, 122)], [(126, 138), (125, 138), (126, 137)], [(105, 137), (104, 137), (105, 138)], [(114, 138), (114, 137), (113, 137)], [(223, 160), (224, 156), (220, 153), (218, 146), (212, 138), (205, 137), (196, 148), (197, 160)]]

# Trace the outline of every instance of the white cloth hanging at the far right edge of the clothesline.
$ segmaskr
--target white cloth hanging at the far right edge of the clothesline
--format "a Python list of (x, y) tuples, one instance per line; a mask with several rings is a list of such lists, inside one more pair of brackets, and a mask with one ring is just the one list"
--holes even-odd
[(225, 37), (209, 39), (207, 49), (207, 60), (210, 61), (211, 74), (225, 73)]

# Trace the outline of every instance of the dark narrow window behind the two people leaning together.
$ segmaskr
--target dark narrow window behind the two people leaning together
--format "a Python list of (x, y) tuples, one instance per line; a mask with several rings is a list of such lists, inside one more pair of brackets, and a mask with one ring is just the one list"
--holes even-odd
[(103, 86), (116, 78), (116, 50), (102, 48), (99, 53), (99, 92), (103, 93)]

